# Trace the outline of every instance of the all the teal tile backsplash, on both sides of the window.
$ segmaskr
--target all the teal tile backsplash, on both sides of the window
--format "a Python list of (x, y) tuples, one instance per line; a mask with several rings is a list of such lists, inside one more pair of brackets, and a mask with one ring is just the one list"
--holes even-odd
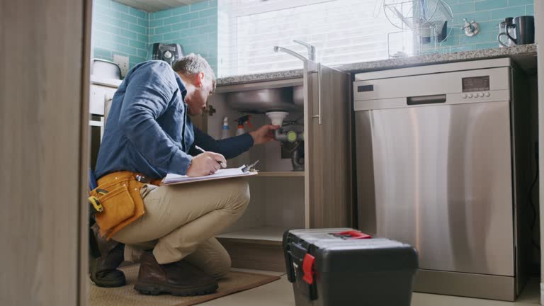
[[(438, 52), (498, 47), (497, 25), (505, 17), (534, 14), (534, 0), (446, 0), (453, 11), (448, 40)], [(463, 18), (480, 23), (480, 33), (468, 38), (460, 28)], [(154, 42), (179, 43), (186, 53), (199, 53), (217, 73), (217, 0), (147, 13), (112, 0), (93, 2), (94, 57), (129, 57), (130, 67), (145, 61)]]

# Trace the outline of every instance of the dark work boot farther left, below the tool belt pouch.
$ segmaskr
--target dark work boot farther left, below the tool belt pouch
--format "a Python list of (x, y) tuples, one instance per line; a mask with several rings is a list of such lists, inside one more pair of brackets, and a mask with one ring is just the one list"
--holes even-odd
[(121, 287), (127, 283), (125, 273), (118, 270), (123, 262), (125, 244), (117, 244), (106, 255), (91, 259), (91, 280), (98, 287)]

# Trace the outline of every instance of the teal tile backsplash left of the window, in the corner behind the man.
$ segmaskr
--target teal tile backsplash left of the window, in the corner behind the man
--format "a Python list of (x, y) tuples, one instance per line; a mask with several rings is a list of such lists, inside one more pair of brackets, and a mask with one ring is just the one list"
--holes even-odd
[(130, 67), (147, 58), (154, 42), (179, 43), (199, 53), (217, 72), (217, 0), (147, 13), (112, 0), (93, 1), (94, 57), (129, 57)]

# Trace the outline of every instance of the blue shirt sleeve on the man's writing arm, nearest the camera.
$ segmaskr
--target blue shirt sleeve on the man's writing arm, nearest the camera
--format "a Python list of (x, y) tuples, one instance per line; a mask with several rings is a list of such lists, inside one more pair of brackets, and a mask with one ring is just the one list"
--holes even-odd
[(132, 74), (125, 91), (120, 129), (150, 164), (165, 173), (184, 175), (193, 157), (183, 152), (157, 123), (179, 87), (168, 64), (142, 68)]

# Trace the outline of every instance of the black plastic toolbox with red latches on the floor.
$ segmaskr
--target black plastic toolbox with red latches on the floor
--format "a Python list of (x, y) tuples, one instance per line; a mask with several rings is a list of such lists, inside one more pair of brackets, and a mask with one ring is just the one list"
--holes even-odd
[(283, 234), (297, 306), (410, 305), (416, 250), (355, 229), (292, 229)]

